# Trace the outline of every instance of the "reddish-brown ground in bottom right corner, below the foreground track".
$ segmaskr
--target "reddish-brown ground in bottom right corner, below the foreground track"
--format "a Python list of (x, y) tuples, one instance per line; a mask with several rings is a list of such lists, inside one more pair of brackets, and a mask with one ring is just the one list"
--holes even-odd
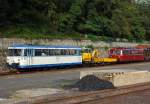
[(150, 90), (109, 97), (87, 104), (150, 104)]

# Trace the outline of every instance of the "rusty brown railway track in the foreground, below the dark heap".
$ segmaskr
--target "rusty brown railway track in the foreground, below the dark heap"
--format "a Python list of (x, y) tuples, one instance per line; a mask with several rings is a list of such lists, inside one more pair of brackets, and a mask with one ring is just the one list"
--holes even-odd
[(94, 102), (149, 89), (150, 82), (101, 91), (69, 92), (63, 94), (49, 95), (42, 98), (32, 98), (28, 101), (24, 101), (17, 104), (96, 104)]

